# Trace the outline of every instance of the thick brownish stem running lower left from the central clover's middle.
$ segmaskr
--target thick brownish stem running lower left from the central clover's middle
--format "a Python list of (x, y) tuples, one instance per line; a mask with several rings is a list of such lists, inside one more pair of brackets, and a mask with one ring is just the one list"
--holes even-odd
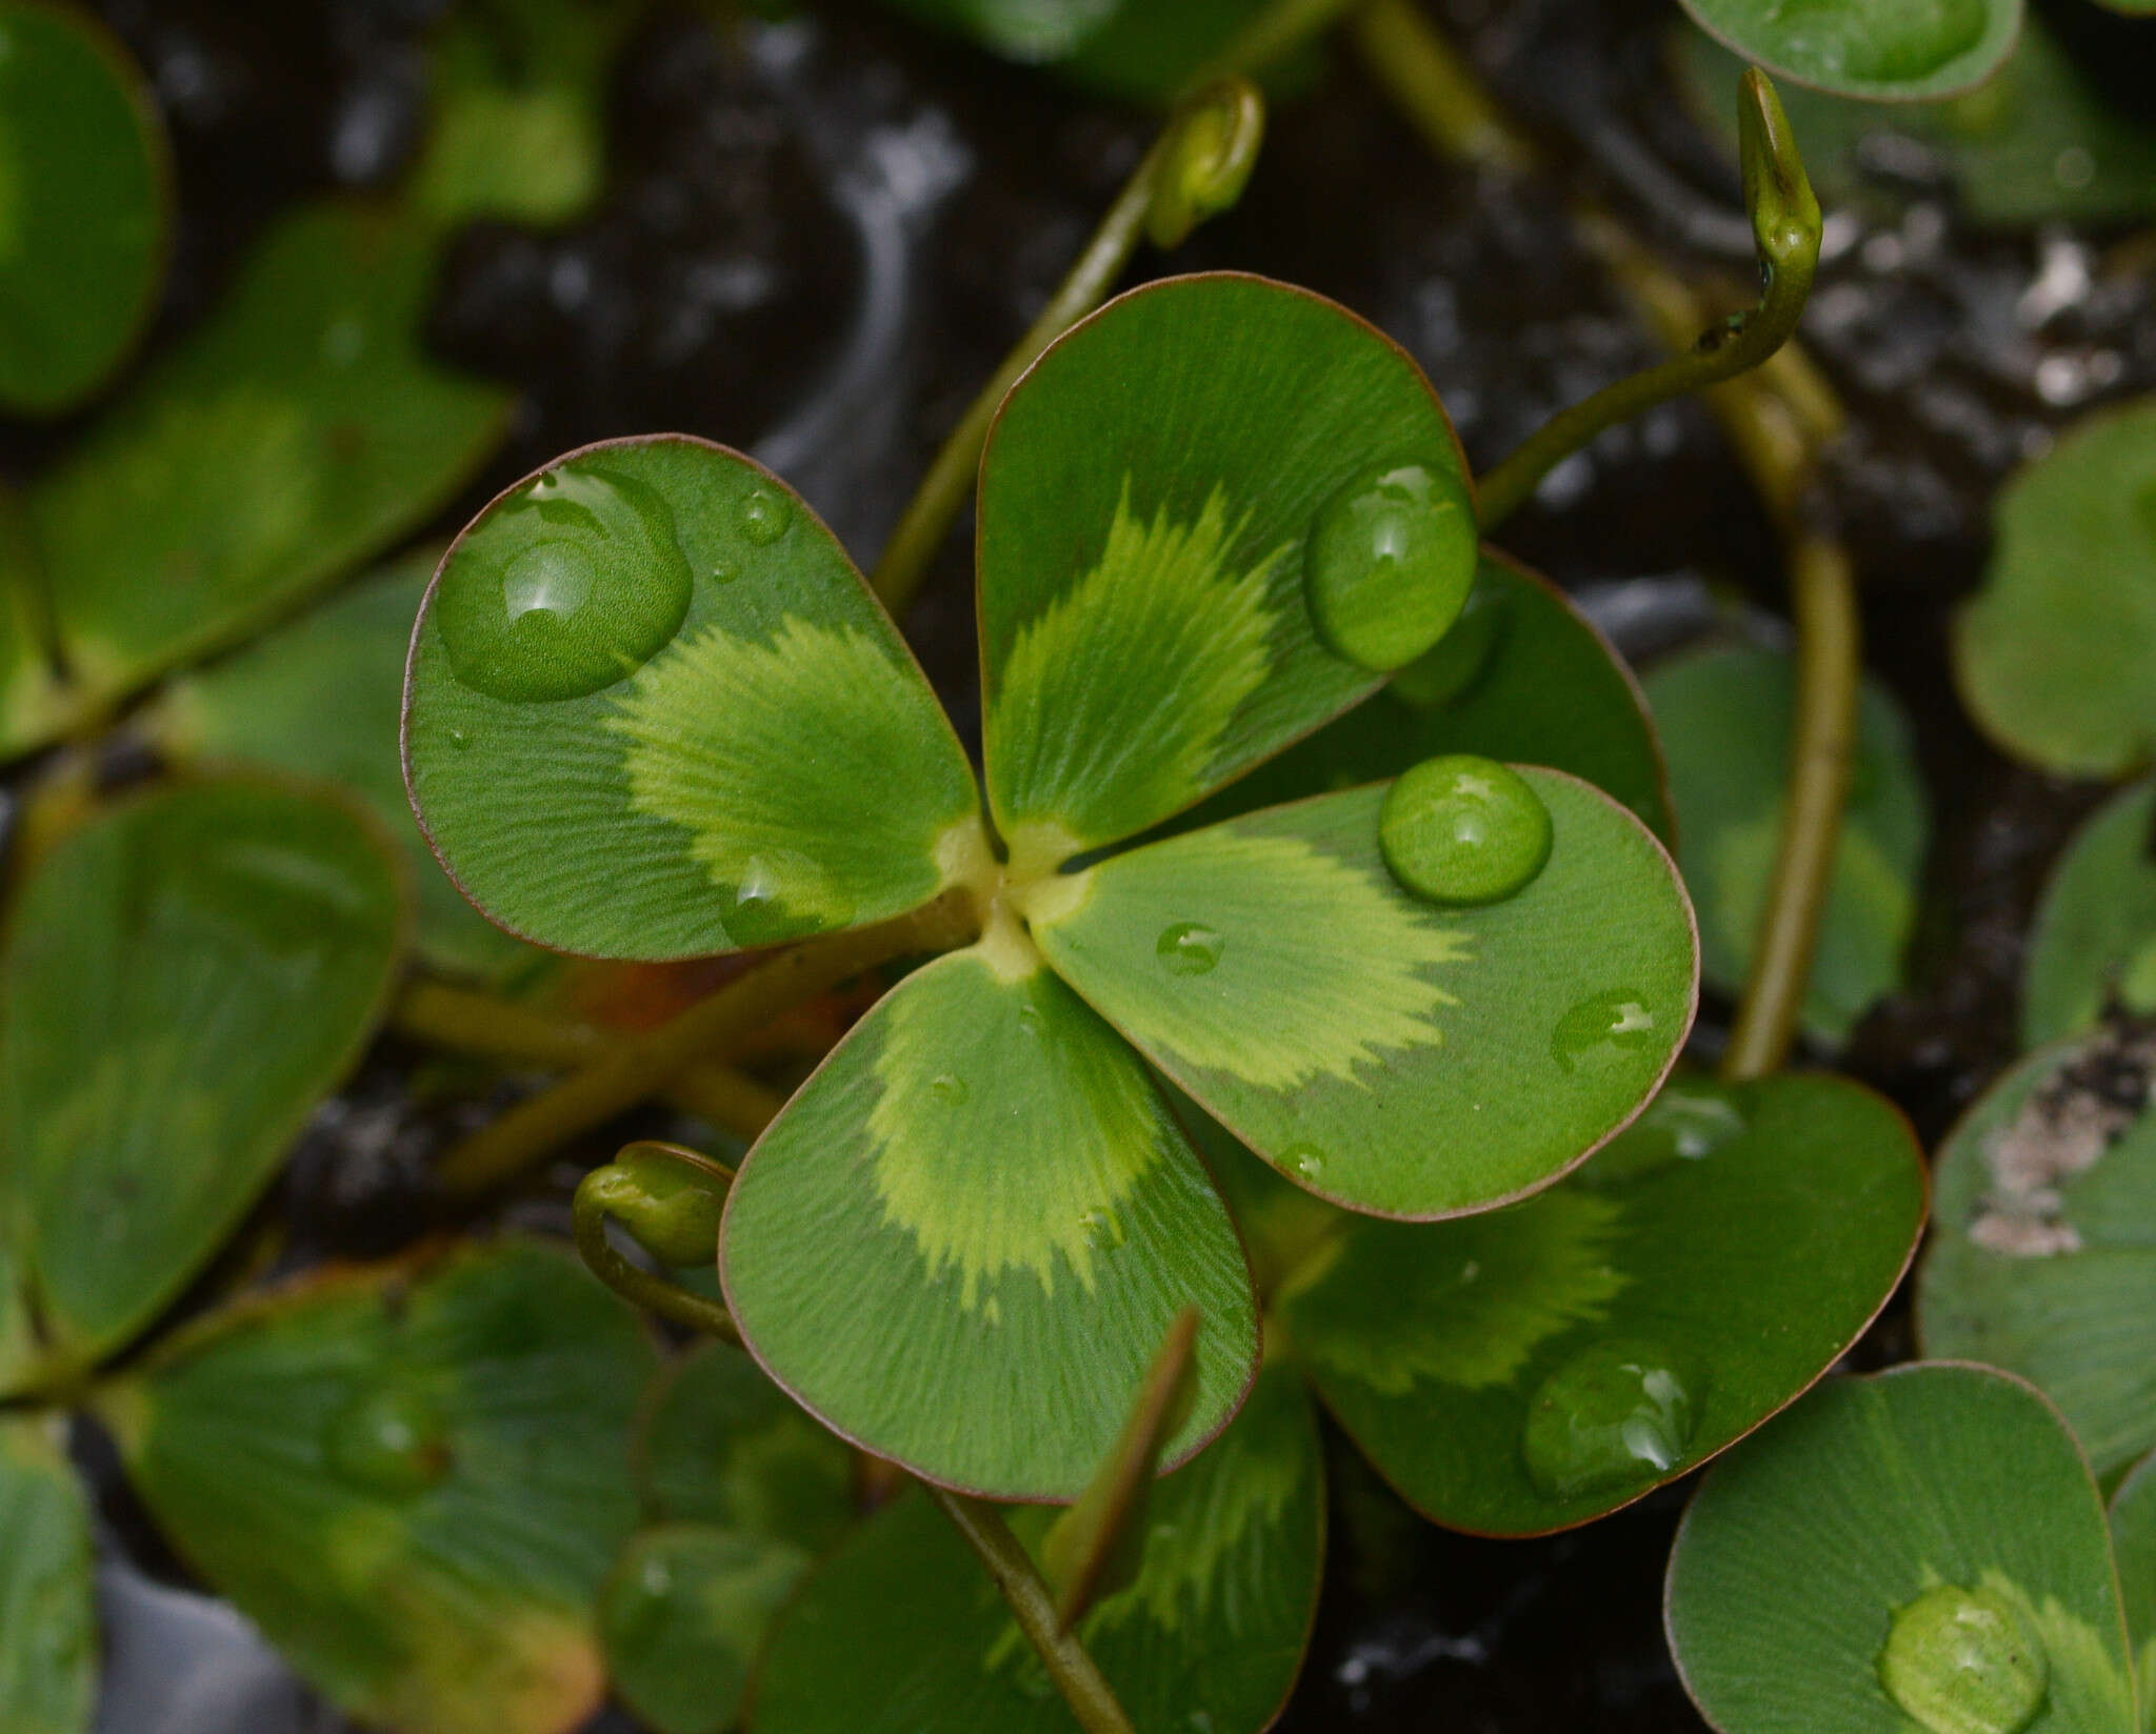
[(617, 1043), (584, 1071), (481, 1127), (451, 1148), (436, 1178), (451, 1193), (496, 1187), (567, 1139), (664, 1090), (690, 1062), (724, 1051), (804, 999), (877, 963), (964, 946), (977, 928), (972, 896), (953, 890), (893, 922), (778, 952), (671, 1023)]

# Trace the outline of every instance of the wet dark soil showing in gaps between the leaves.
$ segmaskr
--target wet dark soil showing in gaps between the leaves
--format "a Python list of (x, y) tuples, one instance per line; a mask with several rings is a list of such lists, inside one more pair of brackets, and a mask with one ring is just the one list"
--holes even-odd
[[(177, 146), (181, 224), (153, 349), (213, 306), (289, 202), (395, 187), (427, 116), (423, 37), (446, 4), (101, 0)], [(1742, 282), (1744, 258), (1729, 248), (1733, 177), (1662, 86), (1671, 9), (1434, 9), (1548, 138), (1557, 179), (1520, 190), (1434, 164), (1341, 65), (1276, 112), (1240, 209), (1138, 271), (1238, 267), (1343, 299), (1419, 355), (1470, 459), (1488, 463), (1554, 407), (1656, 358), (1580, 256), (1567, 185), (1595, 190), (1690, 271)], [(524, 411), (438, 530), (558, 450), (683, 429), (765, 442), (873, 558), (1149, 131), (1145, 116), (867, 6), (740, 39), (711, 24), (716, 11), (662, 6), (630, 41), (610, 90), (608, 190), (586, 222), (550, 235), (481, 224), (453, 243), (429, 340), (515, 383)], [(2156, 30), (2122, 34), (2083, 0), (2046, 11), (2124, 101), (2152, 103)], [(1945, 190), (1904, 194), (1891, 224), (1837, 218), (1807, 338), (1852, 409), (1828, 498), (1863, 575), (1867, 661), (1915, 719), (1936, 812), (1910, 987), (1839, 1064), (1936, 1142), (2014, 1055), (2033, 898), (2098, 793), (2009, 767), (1973, 732), (1947, 674), (1947, 623), (1981, 573), (1999, 478), (2089, 405), (2156, 386), (2156, 312), (2145, 280), (2106, 276), (2109, 237), (1977, 237)], [(0, 431), (0, 465), (34, 470), (80, 420)], [(1628, 648), (1651, 646), (1658, 618), (1697, 616), (1701, 595), (1781, 605), (1768, 526), (1695, 405), (1598, 439), (1505, 543), (1570, 588), (1626, 584), (1626, 618), (1647, 623)], [(977, 715), (968, 584), (959, 526), (910, 627), (962, 726)], [(1708, 1049), (1723, 1012), (1703, 1023)], [(485, 1107), (453, 1073), (384, 1045), (267, 1215), (300, 1256), (392, 1249), (438, 1221), (427, 1161)], [(591, 1155), (610, 1146), (593, 1139)], [(573, 1174), (565, 1165), (515, 1217), (563, 1226)], [(1871, 1364), (1906, 1353), (1895, 1312), (1861, 1351)], [(1335, 1458), (1332, 1570), (1285, 1728), (1699, 1728), (1660, 1637), (1682, 1488), (1507, 1544), (1434, 1532), (1352, 1452)], [(175, 1572), (103, 1480), (121, 1534), (153, 1572)]]

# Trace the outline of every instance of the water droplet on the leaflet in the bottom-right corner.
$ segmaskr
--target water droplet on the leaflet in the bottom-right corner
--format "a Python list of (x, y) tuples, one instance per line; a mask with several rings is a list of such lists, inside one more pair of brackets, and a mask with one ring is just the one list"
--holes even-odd
[(2050, 1684), (2044, 1639), (2022, 1611), (1953, 1583), (1895, 1609), (1878, 1669), (1887, 1695), (1932, 1734), (2020, 1734)]

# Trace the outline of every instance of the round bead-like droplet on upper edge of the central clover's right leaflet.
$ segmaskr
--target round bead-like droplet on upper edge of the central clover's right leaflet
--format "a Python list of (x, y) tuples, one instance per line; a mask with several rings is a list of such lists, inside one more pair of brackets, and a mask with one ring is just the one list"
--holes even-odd
[(1393, 877), (1432, 903), (1501, 903), (1550, 859), (1550, 810), (1494, 758), (1425, 758), (1393, 782), (1378, 849)]

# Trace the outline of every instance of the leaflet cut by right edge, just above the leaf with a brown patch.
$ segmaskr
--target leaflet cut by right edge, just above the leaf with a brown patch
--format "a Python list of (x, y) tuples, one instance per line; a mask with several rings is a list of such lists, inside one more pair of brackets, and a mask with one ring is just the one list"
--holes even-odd
[(2089, 1030), (2113, 1002), (2156, 1012), (2156, 784), (2122, 788), (2050, 870), (2022, 967), (2022, 1047)]

